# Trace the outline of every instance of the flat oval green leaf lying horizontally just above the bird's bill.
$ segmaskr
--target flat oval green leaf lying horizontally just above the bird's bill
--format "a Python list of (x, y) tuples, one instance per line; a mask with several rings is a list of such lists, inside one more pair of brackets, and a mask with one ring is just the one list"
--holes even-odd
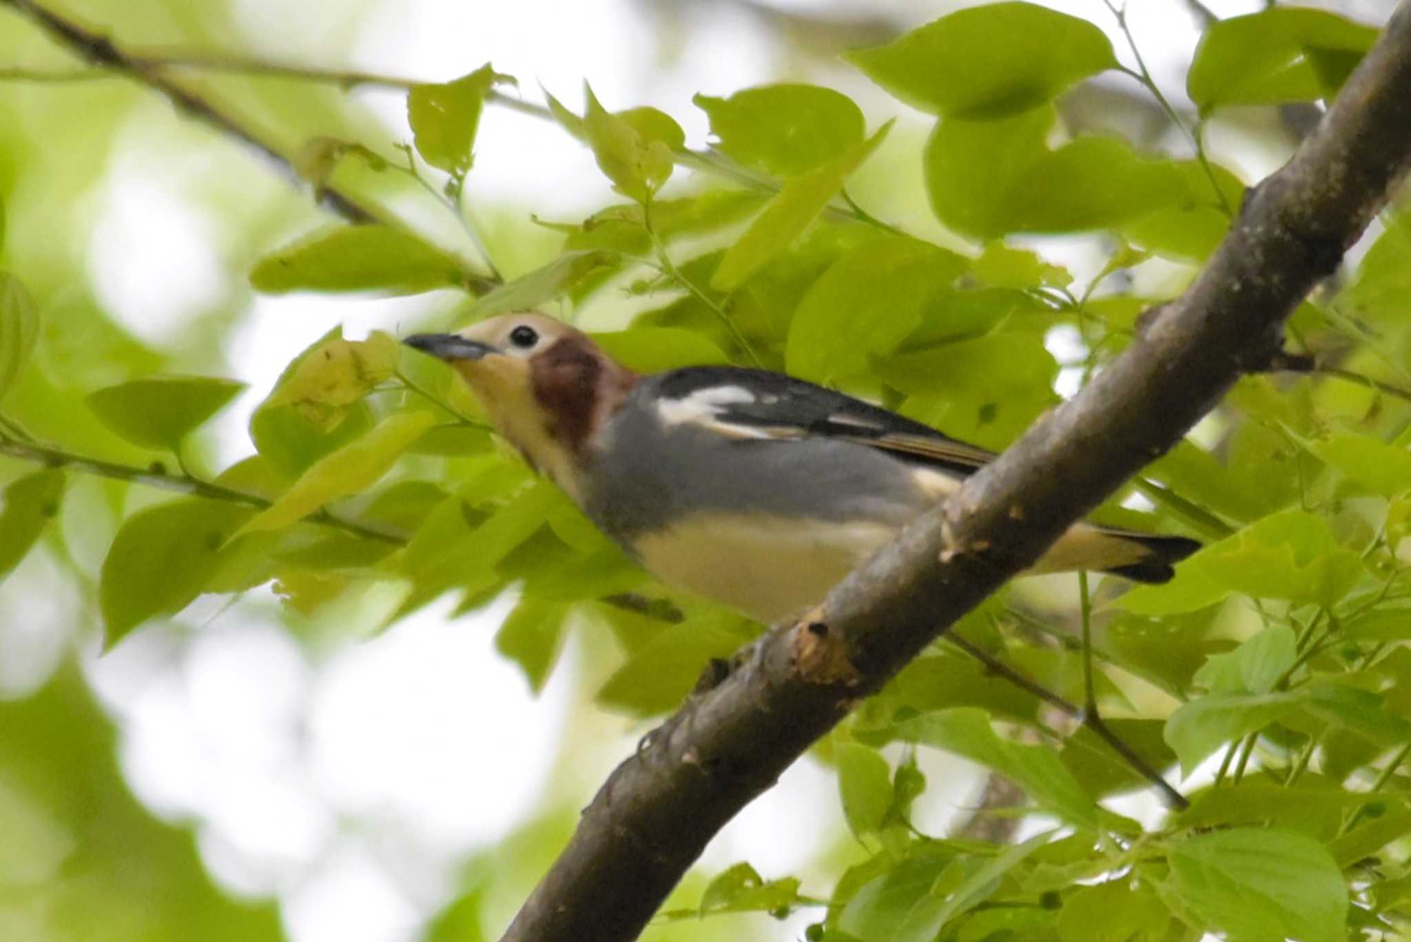
[(265, 255), (250, 271), (250, 283), (267, 295), (293, 290), (416, 295), (464, 286), (460, 262), (398, 228), (380, 224), (336, 226)]

